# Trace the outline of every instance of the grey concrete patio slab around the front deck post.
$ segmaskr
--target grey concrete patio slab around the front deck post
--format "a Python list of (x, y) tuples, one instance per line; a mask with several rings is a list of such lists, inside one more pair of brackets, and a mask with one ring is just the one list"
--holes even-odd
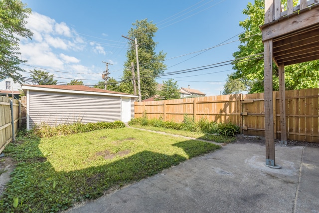
[(319, 213), (319, 148), (265, 146), (221, 150), (70, 209), (69, 213)]

